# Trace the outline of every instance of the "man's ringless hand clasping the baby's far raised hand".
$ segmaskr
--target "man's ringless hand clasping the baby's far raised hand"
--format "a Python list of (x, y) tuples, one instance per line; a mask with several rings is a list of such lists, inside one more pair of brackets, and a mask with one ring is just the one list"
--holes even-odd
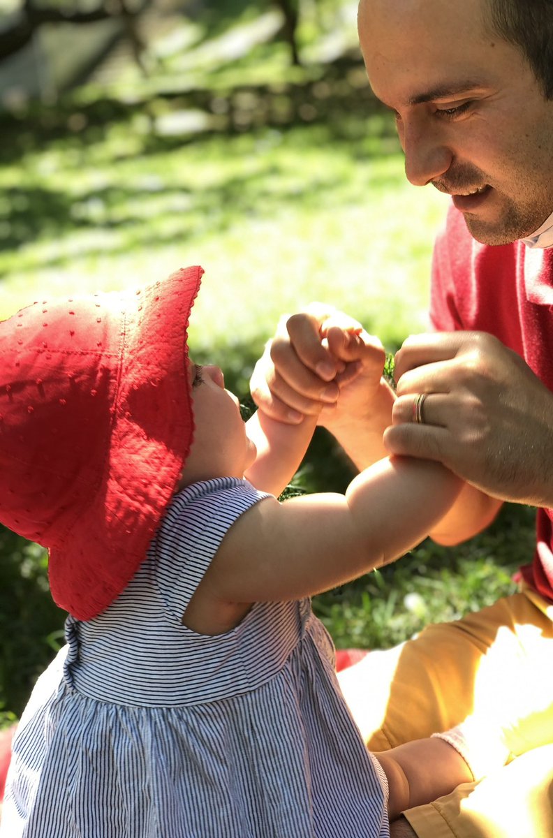
[(251, 394), (280, 422), (317, 415), (318, 423), (332, 430), (344, 416), (370, 413), (384, 362), (380, 340), (347, 315), (313, 303), (281, 319), (256, 364)]

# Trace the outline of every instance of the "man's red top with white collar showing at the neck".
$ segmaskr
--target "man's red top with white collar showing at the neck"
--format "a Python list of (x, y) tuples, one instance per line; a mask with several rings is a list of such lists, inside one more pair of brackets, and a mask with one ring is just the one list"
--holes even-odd
[[(431, 320), (439, 331), (494, 334), (553, 391), (553, 248), (481, 245), (450, 209), (434, 251)], [(553, 602), (553, 510), (538, 510), (534, 561), (521, 572)]]

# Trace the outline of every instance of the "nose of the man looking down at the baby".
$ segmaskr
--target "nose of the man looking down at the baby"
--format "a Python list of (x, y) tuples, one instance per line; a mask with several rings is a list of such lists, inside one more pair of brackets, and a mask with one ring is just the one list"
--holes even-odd
[(406, 177), (414, 186), (426, 186), (451, 166), (453, 153), (439, 130), (427, 124), (404, 125), (400, 138), (406, 156)]

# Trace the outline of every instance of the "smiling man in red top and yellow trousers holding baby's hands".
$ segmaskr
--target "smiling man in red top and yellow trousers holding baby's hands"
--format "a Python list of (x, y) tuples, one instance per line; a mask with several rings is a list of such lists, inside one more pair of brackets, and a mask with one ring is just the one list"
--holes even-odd
[(481, 782), (407, 811), (391, 835), (553, 835), (553, 2), (361, 0), (359, 38), (407, 178), (452, 195), (436, 331), (396, 355), (395, 401), (383, 382), (369, 402), (363, 359), (344, 342), (336, 363), (321, 344), (324, 313), (295, 315), (252, 391), (285, 422), (321, 411), (359, 468), (387, 452), (464, 478), (433, 534), (442, 544), (482, 530), (504, 500), (540, 508), (520, 593), (368, 655), (342, 683), (374, 750), (467, 716), (483, 737)]

